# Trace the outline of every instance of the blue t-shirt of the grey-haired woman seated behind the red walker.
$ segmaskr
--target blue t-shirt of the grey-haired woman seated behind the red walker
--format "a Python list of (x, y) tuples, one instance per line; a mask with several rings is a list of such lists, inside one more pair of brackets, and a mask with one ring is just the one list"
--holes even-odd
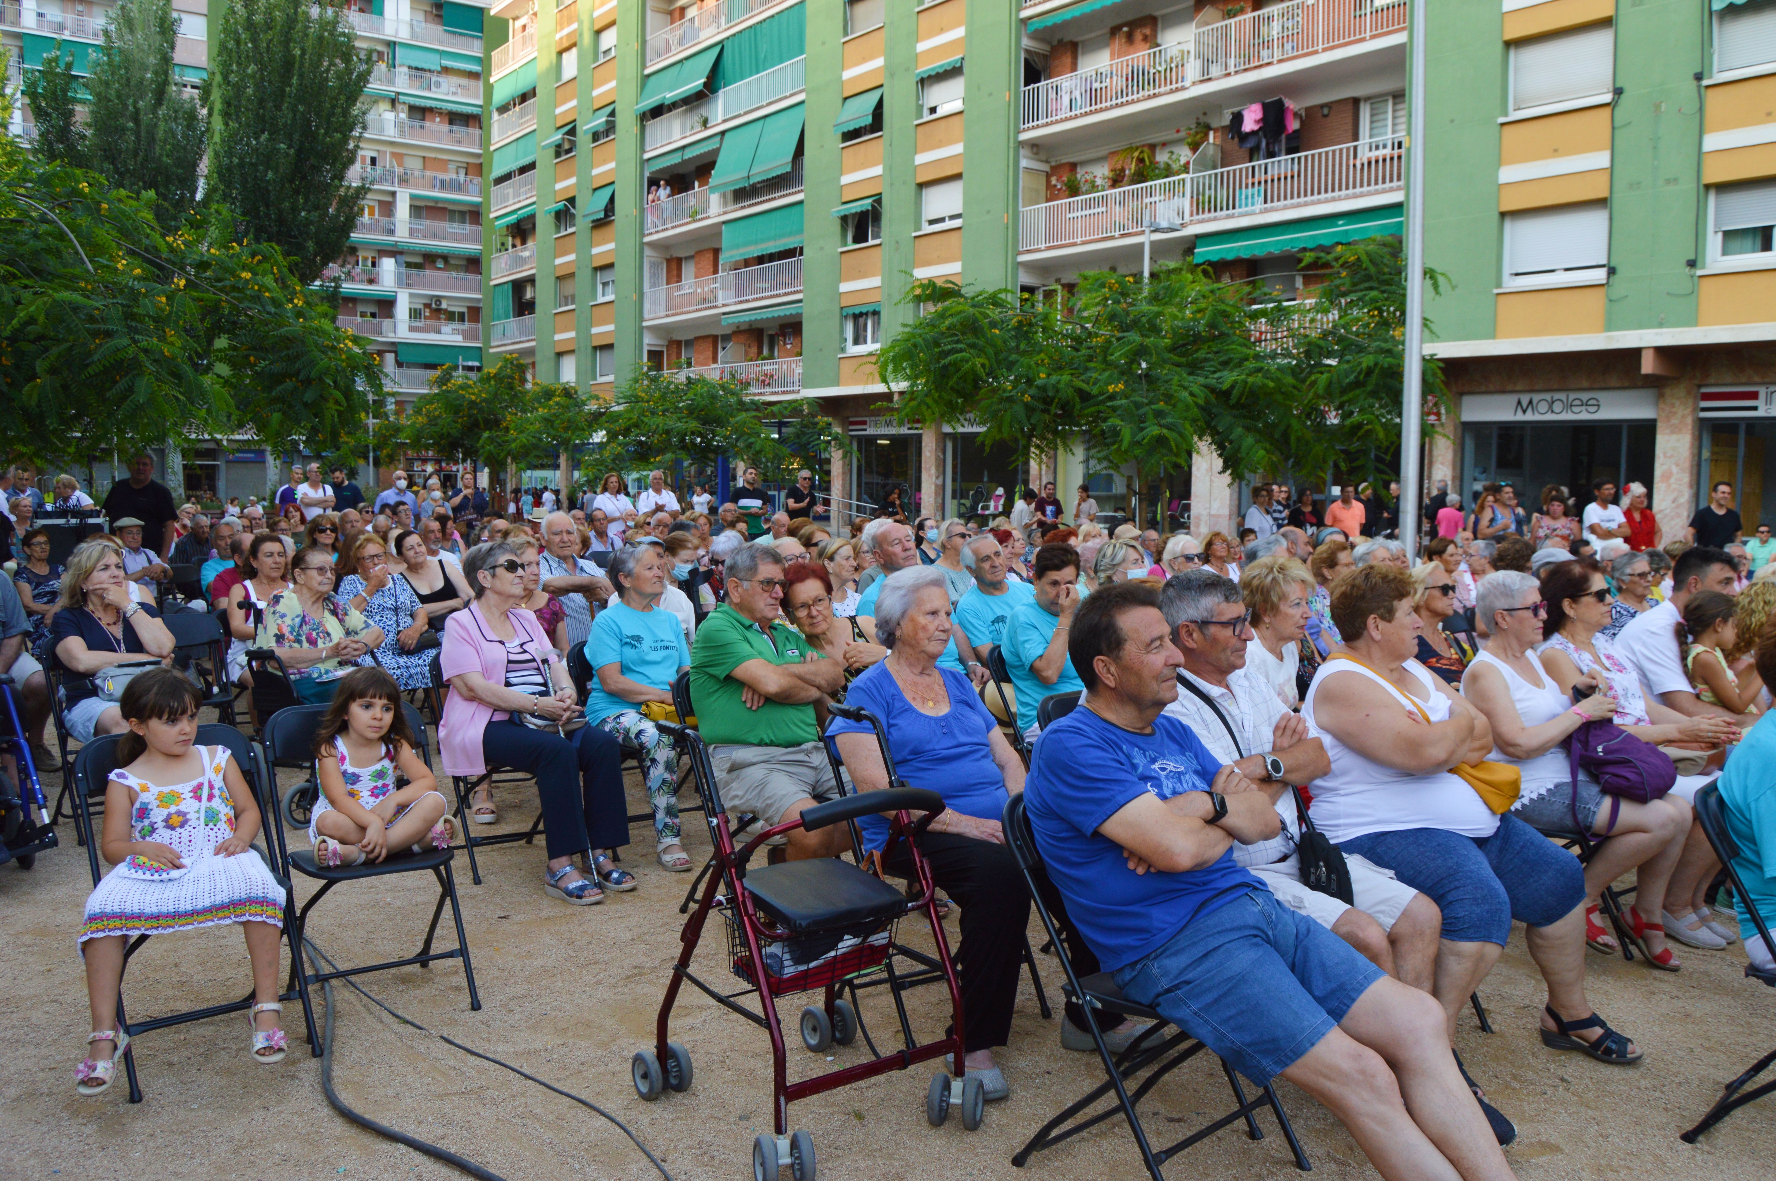
[[(845, 705), (867, 709), (881, 719), (893, 769), (908, 787), (938, 792), (963, 815), (996, 820), (1005, 812), (1005, 774), (993, 762), (987, 733), (998, 723), (980, 703), (966, 673), (943, 670), (943, 687), (950, 694), (950, 712), (931, 717), (906, 700), (886, 662), (872, 664), (845, 689)], [(828, 726), (826, 735), (835, 733), (876, 735), (868, 723), (844, 717), (833, 717)], [(858, 828), (867, 849), (881, 849), (888, 840), (888, 817), (867, 815)]]

